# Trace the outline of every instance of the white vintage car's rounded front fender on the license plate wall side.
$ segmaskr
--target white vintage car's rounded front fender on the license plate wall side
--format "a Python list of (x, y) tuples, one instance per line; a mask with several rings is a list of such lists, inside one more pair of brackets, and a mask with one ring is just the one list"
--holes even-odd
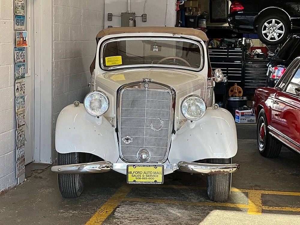
[(119, 158), (115, 130), (108, 120), (88, 114), (83, 106), (61, 110), (55, 127), (55, 148), (59, 153), (86, 152), (115, 163)]

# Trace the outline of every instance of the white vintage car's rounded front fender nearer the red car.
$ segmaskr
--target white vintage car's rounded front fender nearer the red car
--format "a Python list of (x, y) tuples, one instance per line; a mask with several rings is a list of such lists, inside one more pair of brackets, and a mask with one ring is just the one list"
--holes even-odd
[(193, 162), (207, 158), (232, 158), (238, 149), (235, 121), (225, 109), (207, 108), (198, 121), (187, 121), (174, 135), (169, 161)]

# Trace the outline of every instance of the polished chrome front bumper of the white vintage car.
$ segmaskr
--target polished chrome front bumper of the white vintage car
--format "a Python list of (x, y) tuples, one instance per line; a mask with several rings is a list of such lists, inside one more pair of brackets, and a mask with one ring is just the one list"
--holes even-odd
[[(59, 174), (73, 174), (73, 173), (104, 173), (113, 169), (126, 169), (127, 163), (111, 163), (108, 161), (81, 163), (70, 165), (59, 165), (51, 167), (51, 171)], [(134, 164), (134, 165), (139, 165)], [(143, 164), (145, 165), (145, 164)], [(218, 173), (233, 173), (236, 172), (240, 166), (239, 164), (207, 164), (207, 163), (188, 163), (179, 162), (177, 164), (163, 164), (164, 169), (179, 170), (186, 173), (200, 173), (200, 174), (218, 174)]]

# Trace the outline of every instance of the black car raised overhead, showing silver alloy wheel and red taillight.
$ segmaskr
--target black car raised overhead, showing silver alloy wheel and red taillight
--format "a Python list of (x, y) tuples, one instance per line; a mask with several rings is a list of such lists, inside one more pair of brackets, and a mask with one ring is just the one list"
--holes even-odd
[(300, 32), (300, 1), (232, 1), (227, 22), (239, 33), (258, 34), (267, 45), (282, 44), (290, 33)]

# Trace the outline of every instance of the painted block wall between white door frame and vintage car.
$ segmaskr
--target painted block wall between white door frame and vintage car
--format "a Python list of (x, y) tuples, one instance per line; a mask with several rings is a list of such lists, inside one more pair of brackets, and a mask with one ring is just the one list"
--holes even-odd
[(103, 29), (104, 0), (54, 0), (53, 3), (55, 129), (59, 112), (75, 100), (82, 102), (89, 91), (89, 66), (96, 52), (96, 35)]

